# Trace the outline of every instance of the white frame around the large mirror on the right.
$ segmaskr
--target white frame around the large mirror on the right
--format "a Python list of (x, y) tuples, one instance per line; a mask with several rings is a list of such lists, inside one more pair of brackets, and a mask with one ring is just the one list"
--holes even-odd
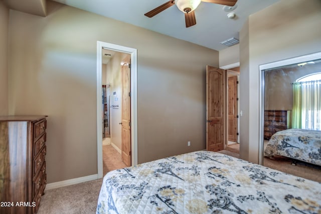
[(259, 65), (259, 164), (263, 165), (264, 159), (264, 71), (267, 69), (278, 68), (286, 65), (298, 64), (301, 62), (321, 59), (321, 52), (298, 56)]

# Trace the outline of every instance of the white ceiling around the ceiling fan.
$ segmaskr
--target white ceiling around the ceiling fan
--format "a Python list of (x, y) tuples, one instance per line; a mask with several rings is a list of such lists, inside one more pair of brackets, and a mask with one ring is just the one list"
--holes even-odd
[(239, 38), (248, 16), (279, 0), (238, 0), (233, 20), (227, 18), (229, 12), (223, 10), (223, 5), (201, 2), (195, 10), (197, 24), (190, 28), (185, 27), (184, 14), (175, 5), (152, 18), (144, 16), (169, 0), (54, 1), (219, 51), (226, 48), (220, 42)]

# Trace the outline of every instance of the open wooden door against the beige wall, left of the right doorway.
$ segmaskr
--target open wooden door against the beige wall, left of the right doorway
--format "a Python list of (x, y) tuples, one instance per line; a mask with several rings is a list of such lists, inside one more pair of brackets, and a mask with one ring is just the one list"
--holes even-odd
[(206, 67), (206, 149), (220, 151), (225, 142), (225, 70)]

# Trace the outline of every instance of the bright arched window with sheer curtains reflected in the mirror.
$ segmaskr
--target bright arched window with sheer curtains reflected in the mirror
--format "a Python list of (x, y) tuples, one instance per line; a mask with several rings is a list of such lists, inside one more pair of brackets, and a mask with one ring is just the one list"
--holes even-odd
[(292, 128), (321, 130), (321, 72), (293, 82)]

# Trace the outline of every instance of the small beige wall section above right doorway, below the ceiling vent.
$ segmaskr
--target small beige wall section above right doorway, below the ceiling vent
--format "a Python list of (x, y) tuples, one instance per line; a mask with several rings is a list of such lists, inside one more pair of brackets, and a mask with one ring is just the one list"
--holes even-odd
[(220, 67), (240, 62), (240, 44), (220, 50)]

